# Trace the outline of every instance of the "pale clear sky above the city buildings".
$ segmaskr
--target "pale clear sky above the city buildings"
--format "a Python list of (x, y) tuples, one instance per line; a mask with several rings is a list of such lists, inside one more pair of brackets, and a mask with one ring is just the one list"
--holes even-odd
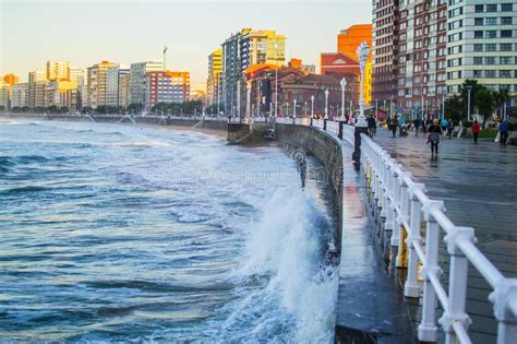
[(0, 0), (0, 75), (21, 81), (47, 60), (86, 69), (103, 60), (161, 60), (204, 90), (207, 57), (243, 27), (287, 36), (286, 57), (316, 64), (340, 29), (371, 23), (371, 0)]

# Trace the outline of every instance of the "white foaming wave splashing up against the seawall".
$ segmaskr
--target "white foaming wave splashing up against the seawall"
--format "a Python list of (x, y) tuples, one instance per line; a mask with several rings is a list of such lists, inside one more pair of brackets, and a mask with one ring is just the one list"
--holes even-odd
[[(250, 230), (243, 263), (233, 272), (240, 283), (266, 278), (267, 286), (248, 295), (227, 325), (260, 312), (253, 320), (253, 332), (262, 332), (257, 340), (332, 342), (338, 278), (337, 269), (325, 264), (330, 239), (328, 221), (309, 195), (294, 186), (277, 190)], [(269, 316), (284, 319), (270, 321)], [(286, 322), (289, 333), (278, 328)]]

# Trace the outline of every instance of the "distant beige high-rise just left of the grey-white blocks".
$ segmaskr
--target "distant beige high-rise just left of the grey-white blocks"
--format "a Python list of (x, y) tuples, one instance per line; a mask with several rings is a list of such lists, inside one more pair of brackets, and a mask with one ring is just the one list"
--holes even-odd
[(115, 67), (113, 62), (103, 61), (100, 63), (88, 67), (87, 73), (87, 105), (96, 108), (99, 105), (110, 105), (108, 92), (108, 69)]

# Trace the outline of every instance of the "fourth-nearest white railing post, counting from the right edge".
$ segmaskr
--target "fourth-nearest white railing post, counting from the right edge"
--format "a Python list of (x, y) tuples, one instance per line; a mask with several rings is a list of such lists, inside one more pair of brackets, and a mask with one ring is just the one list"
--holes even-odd
[(421, 241), (420, 236), (420, 209), (421, 204), (418, 200), (414, 191), (417, 189), (424, 190), (424, 186), (422, 183), (414, 183), (411, 186), (409, 191), (409, 199), (411, 200), (411, 217), (410, 217), (410, 229), (409, 235), (406, 240), (408, 248), (409, 248), (409, 262), (408, 262), (408, 278), (406, 280), (406, 284), (404, 285), (404, 295), (406, 297), (419, 297), (420, 294), (420, 286), (418, 282), (418, 254), (414, 250), (414, 242)]

